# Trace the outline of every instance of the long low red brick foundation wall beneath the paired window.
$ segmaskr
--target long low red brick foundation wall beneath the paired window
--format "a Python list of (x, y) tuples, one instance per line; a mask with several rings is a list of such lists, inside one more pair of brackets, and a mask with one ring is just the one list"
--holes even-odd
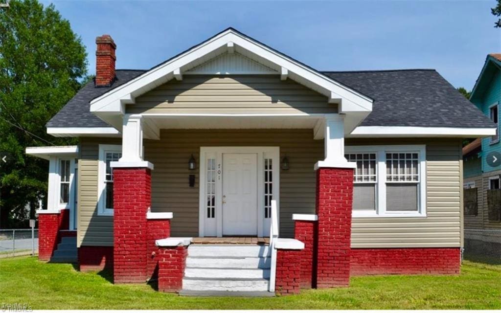
[(459, 274), (459, 248), (352, 249), (351, 274)]

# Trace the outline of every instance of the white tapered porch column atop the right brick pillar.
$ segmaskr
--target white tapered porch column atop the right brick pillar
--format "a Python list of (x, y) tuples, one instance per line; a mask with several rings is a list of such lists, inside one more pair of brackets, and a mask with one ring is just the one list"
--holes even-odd
[(338, 114), (325, 116), (323, 161), (315, 164), (315, 170), (321, 167), (355, 168), (356, 164), (344, 157), (344, 117)]

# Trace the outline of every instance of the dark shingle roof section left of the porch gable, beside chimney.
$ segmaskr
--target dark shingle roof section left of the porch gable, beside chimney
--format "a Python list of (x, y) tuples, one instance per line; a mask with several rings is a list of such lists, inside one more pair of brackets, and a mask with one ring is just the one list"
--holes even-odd
[(108, 123), (90, 112), (90, 101), (109, 90), (127, 83), (143, 74), (144, 70), (116, 70), (116, 80), (110, 87), (94, 87), (88, 82), (68, 103), (47, 123), (47, 127), (110, 127)]

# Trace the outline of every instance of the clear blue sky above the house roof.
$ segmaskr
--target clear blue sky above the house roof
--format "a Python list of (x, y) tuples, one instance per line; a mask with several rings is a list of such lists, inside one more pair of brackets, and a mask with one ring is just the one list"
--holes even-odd
[(149, 69), (230, 26), (317, 70), (433, 68), (468, 90), (486, 54), (501, 52), (494, 0), (53, 3), (82, 37), (90, 74), (98, 35), (115, 40), (117, 68)]

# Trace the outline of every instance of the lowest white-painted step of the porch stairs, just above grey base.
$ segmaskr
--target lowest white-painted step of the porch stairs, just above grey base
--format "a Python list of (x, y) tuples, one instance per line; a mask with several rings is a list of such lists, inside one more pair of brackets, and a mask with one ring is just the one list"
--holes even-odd
[(183, 278), (183, 290), (190, 291), (268, 291), (268, 279)]

